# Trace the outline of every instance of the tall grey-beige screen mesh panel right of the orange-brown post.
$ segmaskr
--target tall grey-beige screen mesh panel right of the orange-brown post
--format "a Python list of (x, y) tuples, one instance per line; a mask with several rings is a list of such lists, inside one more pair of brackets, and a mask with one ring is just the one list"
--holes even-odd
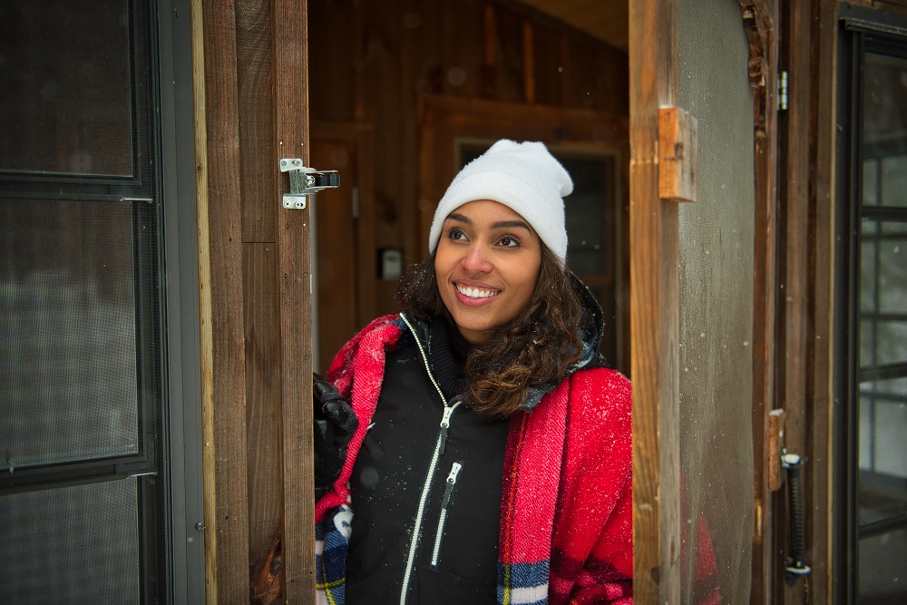
[[(753, 536), (753, 96), (736, 0), (679, 4), (679, 104), (697, 118), (697, 201), (680, 208), (681, 589), (749, 601)], [(705, 538), (708, 540), (705, 540)], [(711, 549), (708, 542), (711, 542)]]

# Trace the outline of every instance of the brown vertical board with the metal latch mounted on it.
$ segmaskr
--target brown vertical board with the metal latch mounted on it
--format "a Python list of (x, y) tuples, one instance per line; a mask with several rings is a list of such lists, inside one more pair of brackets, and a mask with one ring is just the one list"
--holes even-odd
[[(275, 0), (275, 149), (308, 161), (307, 4)], [(298, 154), (298, 155), (297, 155)], [(277, 159), (275, 158), (275, 161)], [(275, 163), (276, 166), (276, 163)], [(275, 200), (288, 190), (280, 180)], [(315, 600), (312, 304), (308, 210), (278, 211), (284, 600)]]

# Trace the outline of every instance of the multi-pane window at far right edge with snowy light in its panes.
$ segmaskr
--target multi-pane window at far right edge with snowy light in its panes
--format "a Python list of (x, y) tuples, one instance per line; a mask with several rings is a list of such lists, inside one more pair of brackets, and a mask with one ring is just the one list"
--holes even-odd
[[(905, 596), (907, 531), (907, 59), (863, 54), (857, 394), (858, 594)], [(900, 561), (900, 562), (896, 562)], [(893, 600), (892, 600), (893, 599)]]

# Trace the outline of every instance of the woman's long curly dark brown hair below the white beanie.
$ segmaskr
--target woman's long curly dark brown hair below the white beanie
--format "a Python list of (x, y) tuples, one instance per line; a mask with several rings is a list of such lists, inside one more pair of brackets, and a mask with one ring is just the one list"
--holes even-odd
[[(571, 275), (551, 250), (541, 247), (539, 278), (526, 307), (475, 346), (466, 360), (469, 405), (476, 413), (512, 415), (526, 401), (528, 386), (558, 382), (579, 361), (579, 330), (591, 319)], [(397, 299), (414, 317), (450, 318), (438, 291), (434, 254), (407, 268)]]

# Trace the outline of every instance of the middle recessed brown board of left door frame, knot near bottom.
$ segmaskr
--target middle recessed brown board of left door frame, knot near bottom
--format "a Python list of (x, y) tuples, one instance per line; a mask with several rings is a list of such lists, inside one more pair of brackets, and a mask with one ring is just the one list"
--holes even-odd
[[(271, 544), (280, 530), (283, 493), (278, 414), (280, 337), (277, 325), (277, 246), (274, 243), (277, 239), (278, 211), (274, 190), (279, 174), (274, 159), (274, 42), (270, 3), (257, 0), (237, 5), (246, 468), (249, 484), (248, 562), (252, 574), (266, 561)], [(253, 586), (253, 592), (255, 590)]]

